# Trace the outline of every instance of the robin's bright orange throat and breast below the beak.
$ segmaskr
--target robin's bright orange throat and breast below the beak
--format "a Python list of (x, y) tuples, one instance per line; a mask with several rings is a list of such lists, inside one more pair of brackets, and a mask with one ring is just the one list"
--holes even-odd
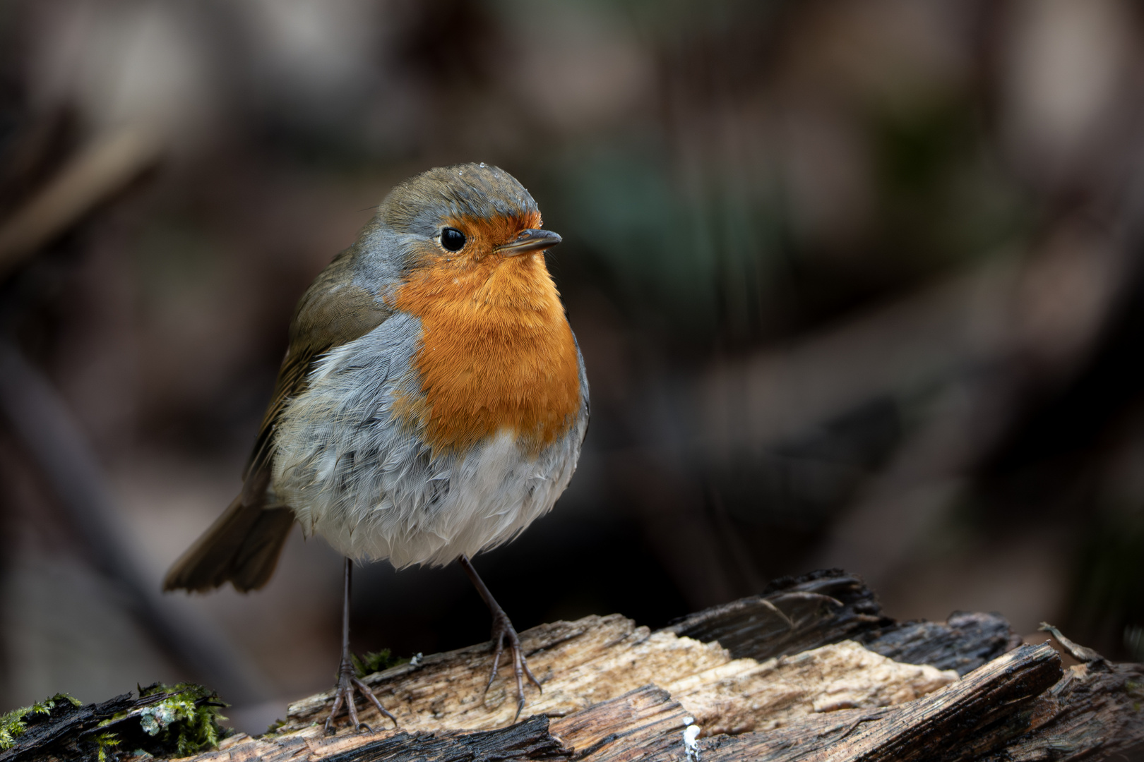
[[(437, 256), (437, 255), (435, 255)], [(580, 403), (572, 329), (542, 254), (456, 263), (438, 256), (396, 294), (421, 320), (422, 399), (394, 411), (424, 426), (435, 454), (507, 430), (532, 455), (567, 433)]]

